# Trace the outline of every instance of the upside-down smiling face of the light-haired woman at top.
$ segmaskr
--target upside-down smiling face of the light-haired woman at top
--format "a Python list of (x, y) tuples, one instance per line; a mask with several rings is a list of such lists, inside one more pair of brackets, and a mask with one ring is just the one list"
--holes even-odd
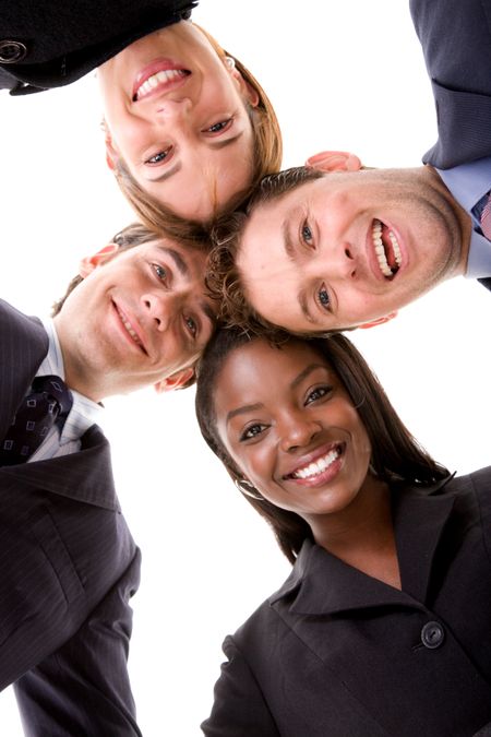
[(181, 21), (128, 46), (98, 70), (109, 159), (182, 217), (207, 219), (246, 189), (253, 169), (240, 73)]

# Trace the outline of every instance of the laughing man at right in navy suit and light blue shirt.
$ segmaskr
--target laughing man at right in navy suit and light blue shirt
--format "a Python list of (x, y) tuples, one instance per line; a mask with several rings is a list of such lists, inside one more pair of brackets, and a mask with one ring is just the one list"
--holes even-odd
[(217, 230), (212, 277), (231, 322), (319, 333), (383, 322), (459, 274), (491, 288), (491, 2), (410, 5), (436, 144), (412, 169), (324, 152), (266, 177)]

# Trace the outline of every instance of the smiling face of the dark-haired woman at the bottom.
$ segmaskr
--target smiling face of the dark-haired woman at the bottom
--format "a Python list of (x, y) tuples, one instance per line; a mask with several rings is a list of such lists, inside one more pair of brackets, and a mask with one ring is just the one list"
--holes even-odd
[(370, 440), (336, 373), (292, 340), (255, 340), (227, 357), (215, 388), (217, 430), (268, 501), (315, 518), (343, 514), (367, 485)]

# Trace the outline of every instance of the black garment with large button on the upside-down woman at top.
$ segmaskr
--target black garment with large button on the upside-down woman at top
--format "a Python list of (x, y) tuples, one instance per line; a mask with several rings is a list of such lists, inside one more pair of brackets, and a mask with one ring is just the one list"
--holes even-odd
[[(146, 34), (190, 17), (197, 0), (0, 0), (0, 87), (11, 94), (74, 82)], [(3, 41), (13, 40), (13, 46)], [(3, 51), (2, 51), (3, 49)]]

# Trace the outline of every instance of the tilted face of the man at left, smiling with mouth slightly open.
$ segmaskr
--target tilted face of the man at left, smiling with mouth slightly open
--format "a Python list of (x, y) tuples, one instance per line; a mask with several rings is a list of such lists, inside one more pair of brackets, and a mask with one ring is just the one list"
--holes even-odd
[(70, 384), (100, 400), (192, 365), (215, 324), (206, 258), (155, 240), (93, 265), (55, 319)]

